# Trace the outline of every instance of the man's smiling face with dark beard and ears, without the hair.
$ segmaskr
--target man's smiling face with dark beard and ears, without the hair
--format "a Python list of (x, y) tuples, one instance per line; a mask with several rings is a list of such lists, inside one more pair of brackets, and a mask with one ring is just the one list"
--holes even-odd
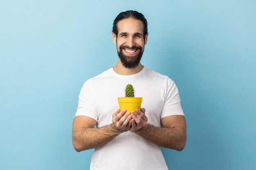
[(143, 37), (144, 25), (141, 20), (127, 18), (117, 22), (118, 35), (112, 33), (113, 42), (117, 44), (117, 53), (126, 68), (138, 66), (148, 34)]

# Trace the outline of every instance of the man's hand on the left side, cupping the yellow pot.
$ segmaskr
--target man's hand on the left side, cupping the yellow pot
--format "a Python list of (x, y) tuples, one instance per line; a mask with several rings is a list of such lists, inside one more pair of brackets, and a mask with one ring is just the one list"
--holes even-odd
[(117, 128), (117, 130), (119, 130), (120, 132), (127, 132), (130, 129), (130, 127), (132, 126), (132, 122), (130, 121), (131, 119), (132, 119), (132, 116), (130, 115), (130, 112), (126, 113), (125, 109), (122, 110), (121, 112), (120, 112), (120, 109), (118, 109), (112, 115), (112, 122)]

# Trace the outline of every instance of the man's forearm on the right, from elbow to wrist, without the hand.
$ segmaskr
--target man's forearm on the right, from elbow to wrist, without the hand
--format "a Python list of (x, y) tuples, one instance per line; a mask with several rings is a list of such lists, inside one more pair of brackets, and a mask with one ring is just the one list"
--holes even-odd
[(181, 128), (158, 128), (146, 124), (146, 126), (138, 130), (136, 134), (164, 148), (181, 151), (186, 145), (186, 131)]

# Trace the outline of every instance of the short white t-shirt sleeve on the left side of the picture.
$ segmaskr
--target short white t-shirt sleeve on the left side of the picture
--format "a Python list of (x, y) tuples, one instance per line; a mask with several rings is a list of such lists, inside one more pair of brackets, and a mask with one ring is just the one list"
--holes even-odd
[(76, 108), (75, 116), (88, 116), (92, 119), (97, 120), (97, 111), (92, 102), (92, 97), (90, 93), (90, 83), (86, 81), (79, 94), (78, 107)]

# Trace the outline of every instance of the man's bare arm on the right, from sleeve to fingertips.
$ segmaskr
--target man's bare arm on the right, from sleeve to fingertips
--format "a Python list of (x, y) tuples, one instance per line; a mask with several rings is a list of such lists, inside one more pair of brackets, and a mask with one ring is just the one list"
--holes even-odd
[(132, 114), (131, 132), (164, 148), (182, 151), (186, 145), (186, 120), (183, 115), (172, 115), (161, 119), (163, 128), (158, 128), (146, 121), (145, 109), (137, 110)]

